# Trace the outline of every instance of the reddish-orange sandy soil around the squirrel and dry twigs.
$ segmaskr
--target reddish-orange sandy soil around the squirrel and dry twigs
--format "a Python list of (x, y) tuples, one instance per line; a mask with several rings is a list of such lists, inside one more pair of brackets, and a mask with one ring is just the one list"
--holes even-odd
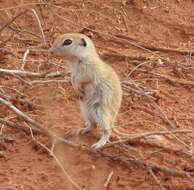
[[(161, 112), (145, 96), (134, 91), (125, 91), (118, 116), (119, 131), (142, 133), (172, 129), (172, 126), (177, 129), (194, 127), (194, 60), (189, 52), (172, 51), (172, 49), (194, 50), (193, 0), (42, 0), (37, 2), (47, 2), (50, 5), (24, 6), (32, 1), (0, 0), (0, 27), (23, 10), (33, 8), (40, 17), (49, 44), (58, 34), (84, 32), (92, 37), (99, 54), (115, 68), (122, 81), (127, 81), (127, 75), (135, 66), (148, 61), (135, 70), (131, 78), (155, 97), (157, 105), (160, 106), (172, 125), (169, 126), (169, 123), (162, 119)], [(6, 7), (17, 5), (21, 6), (3, 10)], [(85, 27), (92, 30), (84, 29)], [(95, 30), (102, 33), (99, 35)], [(18, 17), (2, 31), (0, 29), (0, 32), (0, 68), (20, 69), (27, 47), (38, 46), (41, 43), (40, 29), (31, 11)], [(118, 42), (111, 35), (123, 36), (131, 43), (139, 44), (151, 51), (126, 44), (124, 41)], [(35, 72), (62, 70), (60, 67), (49, 64), (49, 61), (66, 66), (64, 59), (48, 55), (46, 51), (43, 51), (48, 47), (39, 49), (37, 47), (34, 51), (30, 51), (26, 70)], [(172, 82), (151, 72), (175, 80)], [(69, 76), (65, 78), (69, 80)], [(63, 78), (58, 77), (57, 79)], [(29, 78), (28, 80), (34, 79)], [(192, 84), (184, 85), (185, 81), (186, 83), (190, 81)], [(0, 85), (23, 91), (32, 105), (27, 105), (26, 102), (18, 103), (17, 95), (8, 89), (0, 88), (0, 97), (2, 93), (11, 96), (10, 101), (15, 106), (41, 122), (45, 128), (65, 136), (67, 132), (83, 127), (79, 103), (70, 83), (28, 86), (15, 77), (0, 73)], [(18, 119), (13, 112), (1, 104), (0, 116), (23, 124), (21, 119)], [(45, 151), (33, 145), (30, 136), (21, 130), (6, 126), (1, 132), (0, 189), (75, 189), (55, 160)], [(100, 133), (94, 131), (92, 134), (81, 137), (79, 142), (89, 146), (97, 141), (99, 135)], [(11, 142), (3, 140), (6, 139), (4, 137), (11, 138)], [(194, 171), (193, 133), (176, 134), (176, 137), (179, 140), (172, 135), (156, 136), (128, 144), (127, 149), (115, 146), (109, 151), (122, 155), (122, 151), (125, 150), (125, 154), (130, 159), (140, 159), (161, 166)], [(114, 138), (116, 138), (115, 134), (112, 140)], [(42, 137), (40, 139), (43, 142), (46, 141)], [(191, 156), (182, 152), (170, 151), (168, 148), (190, 151)], [(148, 170), (133, 164), (124, 165), (64, 144), (56, 145), (55, 154), (67, 173), (83, 189), (162, 189)], [(112, 171), (110, 183), (104, 187)], [(173, 177), (157, 171), (155, 175), (160, 180), (163, 189), (194, 189), (193, 179)]]

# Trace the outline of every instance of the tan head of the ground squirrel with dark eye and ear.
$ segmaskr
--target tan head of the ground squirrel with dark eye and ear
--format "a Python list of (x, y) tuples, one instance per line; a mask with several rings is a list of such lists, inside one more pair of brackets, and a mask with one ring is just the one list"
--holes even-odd
[(84, 59), (96, 54), (92, 40), (84, 34), (63, 34), (57, 37), (50, 52)]

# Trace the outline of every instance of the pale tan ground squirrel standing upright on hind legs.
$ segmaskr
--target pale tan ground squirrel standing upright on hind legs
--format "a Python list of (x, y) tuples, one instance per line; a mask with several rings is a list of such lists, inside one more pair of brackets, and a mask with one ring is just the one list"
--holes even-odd
[(104, 146), (121, 105), (119, 77), (111, 66), (100, 59), (92, 40), (83, 34), (60, 35), (50, 52), (68, 55), (73, 59), (70, 64), (71, 82), (80, 97), (80, 108), (86, 122), (86, 127), (78, 130), (79, 134), (99, 126), (103, 134), (92, 148)]

